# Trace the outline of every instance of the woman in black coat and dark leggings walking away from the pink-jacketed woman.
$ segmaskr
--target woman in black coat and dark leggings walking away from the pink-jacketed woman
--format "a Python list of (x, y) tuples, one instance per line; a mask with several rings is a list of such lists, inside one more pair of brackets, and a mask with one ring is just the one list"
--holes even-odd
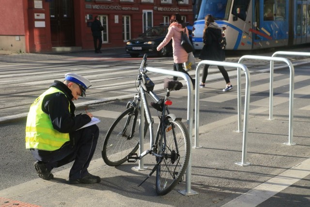
[[(214, 21), (212, 15), (207, 15), (204, 18), (205, 25), (203, 31), (203, 43), (204, 46), (200, 53), (199, 59), (201, 60), (211, 60), (211, 61), (224, 61), (225, 60), (225, 51), (220, 47), (218, 43), (218, 38), (222, 36), (222, 30), (218, 27), (217, 23)], [(202, 81), (200, 87), (205, 87), (205, 80), (208, 76), (208, 68), (210, 65), (204, 65), (202, 71)], [(225, 81), (226, 87), (223, 91), (229, 91), (233, 88), (231, 81), (229, 79), (228, 73), (223, 66), (217, 66), (219, 71), (222, 73)]]

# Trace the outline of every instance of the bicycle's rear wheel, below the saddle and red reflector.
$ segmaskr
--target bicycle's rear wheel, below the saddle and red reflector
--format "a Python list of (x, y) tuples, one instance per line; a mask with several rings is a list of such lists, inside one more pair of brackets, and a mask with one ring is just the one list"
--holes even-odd
[(181, 121), (168, 121), (159, 139), (158, 154), (163, 159), (156, 170), (156, 192), (165, 195), (181, 181), (189, 160), (189, 135)]

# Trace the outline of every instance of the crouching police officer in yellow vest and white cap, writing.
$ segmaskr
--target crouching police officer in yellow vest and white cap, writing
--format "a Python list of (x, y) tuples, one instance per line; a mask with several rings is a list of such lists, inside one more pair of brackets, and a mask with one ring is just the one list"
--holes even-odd
[(98, 183), (100, 177), (87, 168), (99, 137), (96, 125), (84, 127), (92, 113), (75, 116), (74, 100), (85, 97), (91, 82), (75, 73), (65, 74), (63, 82), (55, 80), (30, 107), (26, 124), (26, 148), (34, 159), (39, 177), (53, 179), (51, 170), (74, 161), (69, 183)]

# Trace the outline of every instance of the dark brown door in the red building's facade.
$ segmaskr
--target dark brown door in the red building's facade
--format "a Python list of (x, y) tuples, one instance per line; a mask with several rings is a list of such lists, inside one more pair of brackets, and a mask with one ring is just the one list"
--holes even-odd
[(49, 4), (52, 47), (75, 46), (73, 0), (52, 0)]

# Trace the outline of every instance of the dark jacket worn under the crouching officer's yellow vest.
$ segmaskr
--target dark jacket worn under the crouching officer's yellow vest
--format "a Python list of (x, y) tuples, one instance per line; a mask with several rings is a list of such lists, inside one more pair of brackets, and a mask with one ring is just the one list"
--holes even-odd
[(68, 86), (61, 81), (55, 80), (51, 87), (58, 88), (64, 94), (59, 92), (45, 96), (42, 102), (42, 111), (49, 115), (54, 129), (70, 134), (70, 142), (74, 144), (74, 132), (92, 119), (87, 114), (75, 116), (76, 107), (72, 101), (72, 92)]

